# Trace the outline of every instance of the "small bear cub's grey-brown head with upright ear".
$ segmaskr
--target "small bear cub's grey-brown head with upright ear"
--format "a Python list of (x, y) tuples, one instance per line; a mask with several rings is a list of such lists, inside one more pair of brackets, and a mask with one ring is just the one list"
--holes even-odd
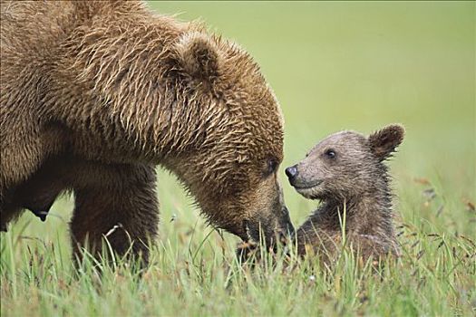
[(349, 199), (386, 182), (384, 160), (403, 140), (401, 125), (389, 125), (369, 137), (353, 131), (319, 142), (295, 166), (286, 169), (296, 191), (311, 199)]

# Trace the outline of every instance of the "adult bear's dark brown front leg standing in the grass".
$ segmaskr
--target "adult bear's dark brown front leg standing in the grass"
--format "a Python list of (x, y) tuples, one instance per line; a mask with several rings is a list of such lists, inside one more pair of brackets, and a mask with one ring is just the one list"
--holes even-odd
[[(159, 203), (155, 193), (155, 170), (139, 165), (85, 168), (84, 179), (74, 187), (75, 207), (71, 222), (73, 250), (101, 254), (107, 238), (114, 252), (148, 261), (147, 243), (157, 235)], [(86, 245), (87, 244), (87, 245)]]

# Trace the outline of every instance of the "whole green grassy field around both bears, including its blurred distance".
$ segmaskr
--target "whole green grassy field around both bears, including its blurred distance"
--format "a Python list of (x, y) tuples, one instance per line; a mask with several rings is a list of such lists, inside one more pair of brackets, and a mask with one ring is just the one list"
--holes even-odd
[[(1, 235), (2, 316), (476, 314), (474, 3), (150, 5), (200, 18), (257, 59), (286, 119), (281, 170), (336, 130), (403, 123), (391, 162), (403, 257), (380, 274), (346, 254), (332, 270), (312, 260), (241, 269), (238, 239), (205, 226), (160, 171), (160, 239), (141, 278), (121, 260), (75, 273), (63, 197), (45, 223), (25, 213)], [(317, 203), (282, 181), (298, 226)]]

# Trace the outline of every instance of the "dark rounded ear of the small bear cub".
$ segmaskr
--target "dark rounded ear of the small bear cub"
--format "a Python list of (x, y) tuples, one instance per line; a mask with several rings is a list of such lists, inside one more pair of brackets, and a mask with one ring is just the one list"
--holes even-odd
[(405, 130), (402, 125), (392, 124), (371, 134), (368, 138), (374, 156), (380, 161), (388, 159), (402, 143)]

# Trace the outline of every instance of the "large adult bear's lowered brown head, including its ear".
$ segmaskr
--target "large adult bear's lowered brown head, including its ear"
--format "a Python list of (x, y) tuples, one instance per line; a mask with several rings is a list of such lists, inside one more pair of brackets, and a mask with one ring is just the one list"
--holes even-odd
[(165, 165), (212, 225), (267, 243), (292, 232), (277, 179), (283, 118), (257, 63), (203, 32), (183, 34), (173, 56)]

